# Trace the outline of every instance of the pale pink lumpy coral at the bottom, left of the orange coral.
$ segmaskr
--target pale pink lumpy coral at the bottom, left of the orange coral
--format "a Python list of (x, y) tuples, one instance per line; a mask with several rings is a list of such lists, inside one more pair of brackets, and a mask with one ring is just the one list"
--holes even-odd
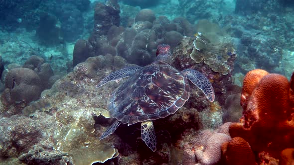
[(184, 151), (183, 165), (214, 165), (221, 159), (221, 145), (229, 142), (229, 126), (224, 123), (218, 129), (185, 132), (179, 147)]

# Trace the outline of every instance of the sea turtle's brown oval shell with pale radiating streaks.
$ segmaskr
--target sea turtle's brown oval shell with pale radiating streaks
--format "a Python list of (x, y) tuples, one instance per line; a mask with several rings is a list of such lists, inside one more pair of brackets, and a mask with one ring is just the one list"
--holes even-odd
[(113, 118), (124, 124), (164, 118), (189, 98), (187, 79), (165, 62), (156, 61), (115, 89), (108, 99)]

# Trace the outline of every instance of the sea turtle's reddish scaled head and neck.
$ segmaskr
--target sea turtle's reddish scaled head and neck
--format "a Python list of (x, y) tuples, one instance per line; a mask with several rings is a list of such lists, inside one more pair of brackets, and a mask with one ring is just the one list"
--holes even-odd
[(156, 61), (164, 61), (167, 63), (171, 63), (171, 53), (170, 53), (170, 46), (167, 44), (159, 44), (157, 46), (156, 51)]

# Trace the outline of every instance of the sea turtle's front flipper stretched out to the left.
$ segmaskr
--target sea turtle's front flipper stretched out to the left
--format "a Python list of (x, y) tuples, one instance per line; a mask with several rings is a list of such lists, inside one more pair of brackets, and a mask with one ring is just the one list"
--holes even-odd
[(140, 70), (142, 67), (127, 67), (120, 69), (118, 71), (112, 72), (110, 75), (105, 77), (103, 80), (101, 80), (96, 87), (100, 87), (106, 83), (109, 83), (111, 81), (120, 80), (126, 77), (129, 77), (136, 73), (138, 70)]

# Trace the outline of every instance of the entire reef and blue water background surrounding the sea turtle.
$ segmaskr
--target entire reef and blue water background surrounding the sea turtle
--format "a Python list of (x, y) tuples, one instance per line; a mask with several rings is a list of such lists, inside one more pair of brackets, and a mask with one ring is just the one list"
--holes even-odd
[[(126, 79), (96, 85), (160, 44), (214, 101), (190, 83), (154, 152), (141, 123), (100, 140)], [(0, 0), (0, 165), (292, 165), (293, 73), (293, 0)]]

